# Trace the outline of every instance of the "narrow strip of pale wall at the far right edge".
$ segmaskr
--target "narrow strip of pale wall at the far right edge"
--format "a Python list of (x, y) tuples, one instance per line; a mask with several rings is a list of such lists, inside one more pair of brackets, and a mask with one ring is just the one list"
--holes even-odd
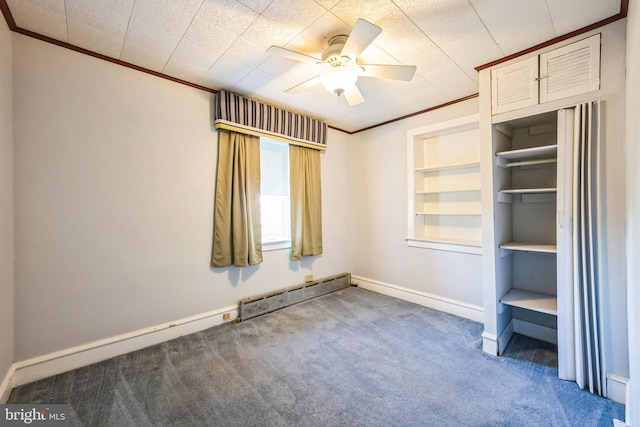
[[(640, 424), (640, 5), (630, 2), (627, 19), (626, 164), (629, 313), (629, 425)], [(632, 424), (633, 423), (633, 424)]]

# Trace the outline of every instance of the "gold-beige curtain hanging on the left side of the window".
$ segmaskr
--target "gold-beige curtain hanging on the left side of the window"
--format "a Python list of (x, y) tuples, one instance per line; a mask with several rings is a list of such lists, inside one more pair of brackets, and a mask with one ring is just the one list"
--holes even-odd
[(211, 265), (262, 262), (260, 138), (220, 130)]

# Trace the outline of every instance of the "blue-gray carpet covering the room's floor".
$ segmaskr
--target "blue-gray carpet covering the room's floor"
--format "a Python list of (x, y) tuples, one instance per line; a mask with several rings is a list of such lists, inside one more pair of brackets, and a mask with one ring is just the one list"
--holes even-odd
[[(72, 426), (611, 426), (554, 346), (480, 349), (482, 325), (348, 288), (13, 390)], [(551, 365), (551, 366), (549, 366)]]

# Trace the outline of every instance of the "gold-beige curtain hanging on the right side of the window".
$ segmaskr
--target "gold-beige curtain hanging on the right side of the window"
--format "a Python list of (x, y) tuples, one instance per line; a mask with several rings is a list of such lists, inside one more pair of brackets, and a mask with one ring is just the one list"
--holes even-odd
[(291, 259), (322, 253), (320, 151), (289, 146)]

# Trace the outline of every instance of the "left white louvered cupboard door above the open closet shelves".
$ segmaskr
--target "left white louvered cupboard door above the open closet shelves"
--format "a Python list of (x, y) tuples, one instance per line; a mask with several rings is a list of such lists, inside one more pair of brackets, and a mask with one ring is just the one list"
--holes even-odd
[(538, 104), (537, 77), (537, 56), (492, 70), (492, 114)]

